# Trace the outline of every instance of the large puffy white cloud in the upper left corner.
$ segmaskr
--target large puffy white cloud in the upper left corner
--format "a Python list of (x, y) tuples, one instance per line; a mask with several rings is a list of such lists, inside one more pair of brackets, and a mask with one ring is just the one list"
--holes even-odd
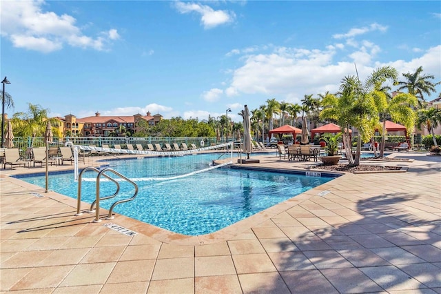
[(119, 39), (116, 29), (86, 36), (68, 14), (43, 11), (45, 1), (3, 1), (1, 4), (1, 36), (10, 39), (14, 47), (53, 52), (65, 44), (72, 47), (106, 50), (110, 41)]

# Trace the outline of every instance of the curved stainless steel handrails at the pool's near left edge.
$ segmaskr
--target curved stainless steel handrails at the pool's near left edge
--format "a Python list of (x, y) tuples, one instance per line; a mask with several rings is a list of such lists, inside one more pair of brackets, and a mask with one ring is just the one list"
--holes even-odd
[[(95, 216), (94, 222), (101, 222), (101, 219), (99, 218), (99, 202), (100, 202), (100, 200), (113, 198), (116, 195), (118, 195), (119, 190), (120, 190), (119, 183), (116, 181), (116, 179), (113, 179), (109, 175), (106, 175), (105, 174), (106, 172), (114, 173), (114, 175), (117, 175), (117, 176), (121, 177), (121, 179), (125, 179), (125, 181), (129, 182), (130, 184), (132, 184), (134, 186), (134, 188), (135, 188), (135, 192), (134, 192), (132, 197), (116, 201), (116, 202), (114, 202), (114, 204), (112, 204), (112, 206), (110, 206), (109, 215), (107, 215), (107, 219), (113, 219), (114, 218), (112, 216), (112, 212), (113, 212), (113, 209), (115, 208), (116, 205), (118, 205), (120, 203), (132, 201), (134, 199), (134, 197), (136, 197), (136, 195), (138, 195), (138, 185), (135, 182), (133, 182), (131, 179), (125, 177), (124, 175), (121, 175), (121, 173), (118, 173), (116, 170), (114, 170), (112, 168), (103, 168), (102, 170), (99, 170), (98, 168), (95, 168), (93, 166), (88, 166), (87, 168), (84, 168), (83, 170), (81, 170), (81, 173), (79, 173), (79, 177), (78, 177), (78, 202), (76, 204), (76, 215), (82, 215), (83, 214), (80, 211), (80, 208), (81, 208), (81, 178), (83, 176), (83, 173), (85, 173), (87, 170), (94, 170), (94, 171), (96, 171), (96, 173), (98, 173), (98, 175), (96, 175), (96, 199), (90, 205), (90, 212), (93, 212), (94, 211), (94, 206), (96, 206), (96, 208), (95, 208), (95, 210), (96, 210), (95, 211), (95, 215), (96, 216)], [(114, 182), (114, 184), (116, 184), (116, 192), (113, 195), (105, 196), (105, 197), (102, 197), (102, 198), (99, 197), (100, 196), (99, 195), (99, 192), (100, 192), (100, 190), (99, 190), (99, 182), (100, 182), (101, 176), (106, 177), (110, 181)]]

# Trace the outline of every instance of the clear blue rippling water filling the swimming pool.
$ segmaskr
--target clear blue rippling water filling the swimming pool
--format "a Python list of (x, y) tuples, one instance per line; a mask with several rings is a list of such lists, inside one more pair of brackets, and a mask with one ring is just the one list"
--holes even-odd
[[(201, 157), (201, 161), (185, 157), (154, 157), (111, 161), (110, 165), (127, 177), (170, 176), (199, 169), (218, 158), (218, 155), (193, 156)], [(96, 173), (88, 172), (84, 177), (96, 177)], [(45, 187), (44, 175), (21, 179)], [(307, 177), (305, 173), (216, 168), (170, 181), (136, 182), (139, 194), (135, 200), (119, 204), (114, 212), (176, 233), (203, 235), (225, 228), (331, 179), (333, 177)], [(108, 209), (116, 200), (133, 195), (132, 185), (125, 182), (120, 184), (119, 195), (101, 201), (101, 207)], [(96, 197), (96, 183), (83, 181), (81, 186), (82, 200), (92, 203)], [(78, 194), (78, 182), (74, 182), (72, 173), (50, 175), (49, 188), (75, 199)], [(101, 182), (100, 191), (101, 197), (112, 195), (115, 184)]]

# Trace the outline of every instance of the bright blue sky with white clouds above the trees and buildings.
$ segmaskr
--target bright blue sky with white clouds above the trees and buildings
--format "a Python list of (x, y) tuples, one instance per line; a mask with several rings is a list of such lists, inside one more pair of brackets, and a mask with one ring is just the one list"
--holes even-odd
[[(1, 78), (49, 116), (237, 115), (343, 77), (441, 80), (440, 1), (1, 1)], [(435, 99), (441, 91), (427, 97)]]

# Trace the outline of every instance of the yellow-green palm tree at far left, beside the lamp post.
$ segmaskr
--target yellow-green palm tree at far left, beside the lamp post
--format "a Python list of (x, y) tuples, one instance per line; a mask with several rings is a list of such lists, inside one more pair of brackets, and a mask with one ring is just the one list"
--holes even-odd
[[(18, 137), (28, 137), (32, 136), (32, 143), (35, 137), (43, 137), (46, 125), (48, 121), (54, 127), (59, 126), (59, 120), (57, 118), (48, 118), (48, 109), (43, 109), (39, 105), (28, 104), (28, 112), (17, 112), (14, 113), (11, 123), (14, 130), (17, 130)], [(57, 134), (58, 129), (54, 128), (52, 130)]]

